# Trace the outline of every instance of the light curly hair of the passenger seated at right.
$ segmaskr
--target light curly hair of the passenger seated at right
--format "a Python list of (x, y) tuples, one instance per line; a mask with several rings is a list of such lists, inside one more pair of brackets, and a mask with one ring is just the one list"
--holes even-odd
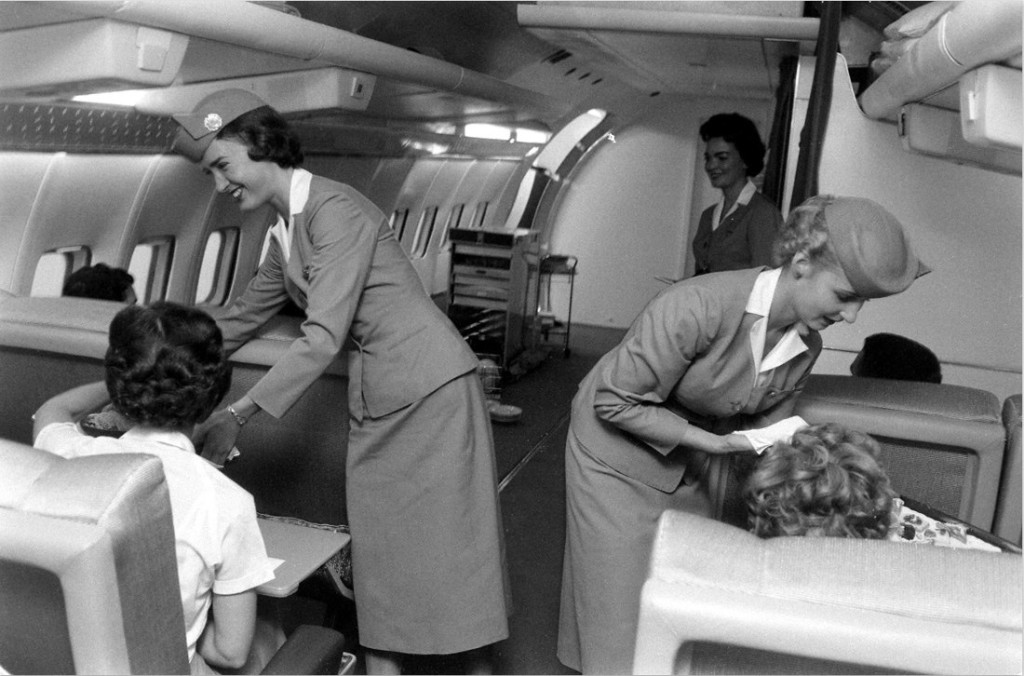
[(746, 480), (751, 530), (761, 538), (884, 539), (896, 495), (878, 458), (878, 442), (863, 432), (836, 423), (798, 431)]

